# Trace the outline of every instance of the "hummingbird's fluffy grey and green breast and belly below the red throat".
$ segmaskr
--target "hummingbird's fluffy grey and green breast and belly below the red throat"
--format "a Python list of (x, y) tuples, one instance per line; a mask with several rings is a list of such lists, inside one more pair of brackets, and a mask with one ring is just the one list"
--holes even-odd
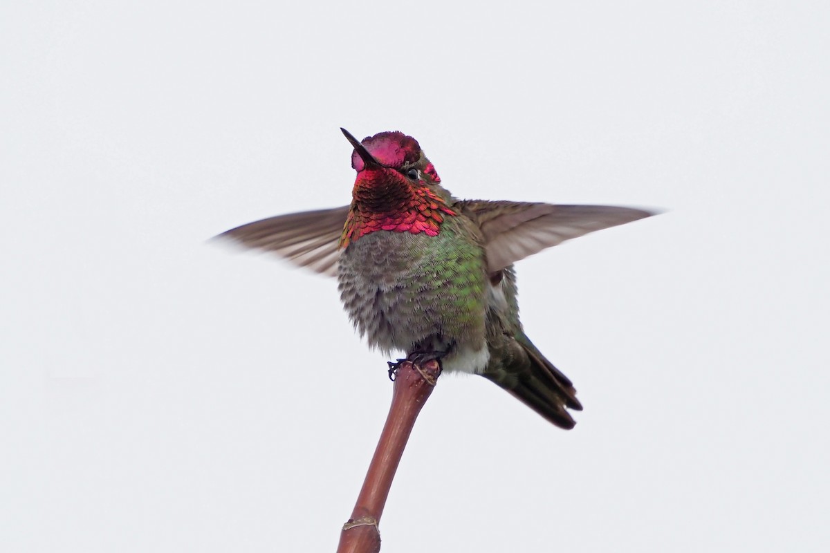
[(447, 371), (486, 366), (484, 255), (452, 238), (378, 231), (341, 253), (340, 298), (370, 347), (447, 352)]

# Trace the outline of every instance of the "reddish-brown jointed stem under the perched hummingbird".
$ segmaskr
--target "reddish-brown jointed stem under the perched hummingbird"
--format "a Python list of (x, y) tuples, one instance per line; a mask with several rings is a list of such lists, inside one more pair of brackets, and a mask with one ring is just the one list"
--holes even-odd
[(383, 432), (374, 450), (374, 457), (369, 463), (363, 488), (358, 501), (354, 504), (352, 517), (340, 532), (337, 553), (378, 553), (380, 551), (380, 531), (378, 522), (386, 505), (389, 488), (403, 449), (407, 446), (418, 413), (432, 394), (438, 374), (441, 372), (438, 361), (427, 361), (416, 366), (410, 361), (403, 361), (398, 367), (398, 376), (392, 392), (392, 405), (383, 425)]

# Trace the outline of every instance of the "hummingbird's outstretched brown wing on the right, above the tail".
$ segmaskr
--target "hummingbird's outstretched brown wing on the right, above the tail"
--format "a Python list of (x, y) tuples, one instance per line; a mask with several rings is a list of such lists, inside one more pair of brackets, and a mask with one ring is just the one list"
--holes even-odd
[(594, 230), (623, 225), (654, 211), (618, 206), (555, 206), (520, 201), (459, 201), (484, 235), (491, 273)]

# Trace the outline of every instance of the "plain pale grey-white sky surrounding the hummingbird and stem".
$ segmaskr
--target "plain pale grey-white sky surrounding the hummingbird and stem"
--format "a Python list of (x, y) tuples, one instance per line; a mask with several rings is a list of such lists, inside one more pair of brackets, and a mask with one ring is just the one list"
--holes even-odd
[(579, 389), (442, 378), (383, 551), (828, 551), (826, 2), (3, 2), (0, 549), (334, 551), (388, 408), (334, 280), (206, 240), (349, 201), (666, 214), (522, 261)]

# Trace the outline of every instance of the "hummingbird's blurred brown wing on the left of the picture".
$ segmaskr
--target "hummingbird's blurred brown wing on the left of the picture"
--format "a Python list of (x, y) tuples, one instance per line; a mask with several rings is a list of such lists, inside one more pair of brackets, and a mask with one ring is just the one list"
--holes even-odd
[(237, 226), (217, 238), (271, 251), (299, 267), (335, 276), (340, 235), (348, 215), (349, 206), (290, 213)]

